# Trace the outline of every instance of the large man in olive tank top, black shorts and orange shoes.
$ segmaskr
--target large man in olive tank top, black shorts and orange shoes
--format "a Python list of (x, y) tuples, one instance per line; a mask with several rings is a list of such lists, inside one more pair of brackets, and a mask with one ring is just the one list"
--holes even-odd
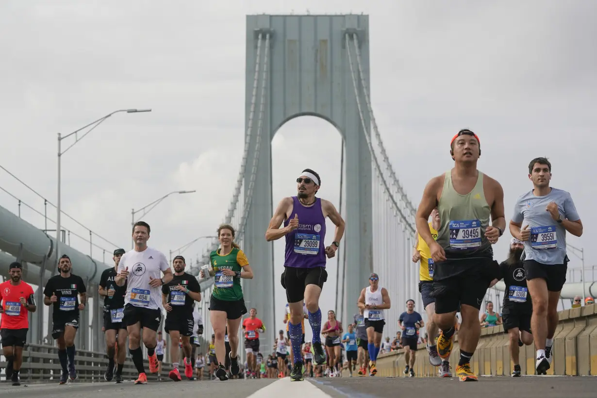
[[(418, 233), (429, 246), (435, 263), (433, 319), (442, 330), (438, 338), (442, 359), (450, 357), (454, 317), (458, 305), (461, 306), (460, 360), (456, 368), (460, 381), (477, 380), (470, 368), (470, 357), (481, 335), (479, 308), (487, 289), (497, 282), (499, 268), (491, 245), (506, 226), (500, 183), (477, 169), (479, 144), (479, 137), (470, 130), (454, 135), (450, 143), (454, 168), (427, 183), (416, 217)], [(434, 208), (438, 208), (441, 220), (437, 240), (427, 224)]]

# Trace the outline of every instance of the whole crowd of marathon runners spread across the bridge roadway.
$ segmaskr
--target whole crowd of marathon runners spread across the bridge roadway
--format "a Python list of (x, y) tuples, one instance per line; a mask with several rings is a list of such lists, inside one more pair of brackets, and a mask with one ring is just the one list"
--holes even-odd
[[(414, 376), (418, 329), (425, 327), (430, 363), (441, 367), (441, 376), (451, 377), (448, 359), (453, 349), (456, 314), (460, 312), (460, 358), (456, 374), (461, 381), (476, 381), (470, 358), (481, 334), (479, 309), (487, 289), (504, 279), (507, 294), (504, 295), (502, 316), (515, 363), (512, 375), (520, 375), (519, 345), (533, 342), (537, 350), (536, 372), (546, 374), (552, 361), (558, 300), (569, 261), (566, 232), (575, 236), (581, 236), (583, 232), (574, 202), (570, 193), (550, 187), (550, 162), (546, 158), (533, 159), (528, 165), (528, 178), (533, 189), (516, 200), (509, 223), (513, 236), (509, 257), (498, 264), (493, 259), (491, 246), (506, 229), (503, 189), (500, 183), (477, 169), (481, 148), (478, 135), (472, 131), (463, 129), (454, 135), (450, 155), (454, 168), (427, 183), (417, 209), (413, 261), (421, 264), (419, 291), (427, 322), (414, 311), (414, 301), (408, 300), (405, 303), (407, 311), (399, 317), (398, 325), (402, 329), (402, 345), (407, 359), (404, 373)], [(330, 201), (316, 197), (321, 187), (319, 174), (304, 169), (296, 181), (297, 195), (278, 203), (265, 233), (268, 242), (285, 238), (284, 271), (280, 282), (288, 302), (287, 336), (280, 331), (275, 349), (282, 353), (286, 347), (290, 348), (291, 381), (303, 381), (305, 365), (311, 362), (315, 368), (327, 364), (336, 375), (341, 341), (350, 345), (350, 351), (356, 351), (356, 354), (350, 354), (350, 363), (358, 362), (359, 374), (365, 374), (368, 369), (374, 376), (385, 325), (384, 311), (391, 305), (390, 294), (379, 285), (378, 275), (372, 273), (369, 286), (362, 289), (358, 299), (354, 341), (352, 334), (342, 337), (343, 329), (334, 311), (328, 313), (328, 320), (322, 326), (319, 297), (327, 280), (326, 258), (336, 255), (345, 224)], [(330, 218), (336, 228), (333, 242), (324, 247), (326, 218)], [(202, 268), (200, 276), (214, 277), (209, 305), (214, 335), (209, 347), (209, 362), (215, 377), (225, 381), (229, 379), (228, 369), (232, 377), (238, 377), (240, 371), (238, 331), (242, 316), (247, 313), (241, 279), (253, 279), (254, 274), (244, 252), (234, 242), (235, 229), (224, 224), (217, 233), (220, 248), (211, 252), (210, 264)], [(149, 237), (147, 223), (134, 224), (134, 249), (115, 251), (115, 267), (101, 276), (100, 294), (106, 302), (104, 328), (109, 360), (106, 380), (112, 380), (113, 373), (116, 382), (122, 378), (125, 350), (119, 350), (115, 356), (115, 347), (118, 344), (124, 348), (127, 336), (128, 351), (139, 372), (135, 383), (147, 382), (141, 342), (147, 348), (150, 372), (158, 371), (156, 331), (161, 324), (162, 308), (167, 311), (165, 331), (173, 341), (170, 354), (174, 370), (169, 376), (175, 381), (181, 380), (178, 370), (180, 341), (184, 372), (187, 377), (192, 377), (194, 355), (189, 338), (195, 327), (193, 306), (201, 300), (199, 283), (184, 272), (185, 261), (181, 256), (174, 259), (173, 273), (165, 255), (147, 247)], [(87, 302), (85, 284), (81, 277), (71, 273), (71, 269), (69, 257), (63, 255), (59, 261), (60, 274), (48, 280), (44, 288), (44, 304), (54, 307), (52, 335), (59, 347), (61, 384), (77, 377), (73, 342), (79, 325), (79, 311)], [(20, 280), (19, 263), (11, 264), (10, 274), (11, 280), (0, 285), (4, 312), (2, 344), (9, 363), (7, 376), (10, 374), (13, 383), (18, 384), (28, 327), (27, 313), (35, 311), (36, 307), (32, 289)], [(257, 310), (252, 308), (251, 316), (242, 322), (251, 377), (261, 373), (257, 368), (259, 332), (265, 331), (256, 313)], [(304, 319), (308, 320), (313, 335), (309, 357), (293, 355), (303, 353)], [(350, 329), (349, 333), (352, 333)], [(326, 336), (323, 343), (322, 334)], [(276, 369), (285, 375), (286, 358), (281, 365), (280, 357), (276, 354)], [(275, 360), (270, 357), (269, 366)], [(262, 365), (261, 360), (260, 367)], [(352, 374), (352, 366), (349, 368)]]

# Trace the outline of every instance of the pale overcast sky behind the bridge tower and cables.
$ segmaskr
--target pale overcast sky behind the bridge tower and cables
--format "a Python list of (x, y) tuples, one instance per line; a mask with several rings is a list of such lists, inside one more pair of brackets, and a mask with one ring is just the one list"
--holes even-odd
[[(571, 193), (586, 227), (581, 238), (568, 235), (569, 242), (586, 249), (587, 266), (597, 263), (590, 243), (597, 224), (591, 204), (597, 2), (289, 3), (0, 2), (0, 164), (55, 203), (57, 132), (67, 134), (112, 110), (152, 108), (114, 116), (64, 155), (63, 209), (129, 249), (131, 208), (172, 190), (196, 189), (171, 196), (144, 217), (153, 227), (150, 245), (167, 253), (213, 235), (244, 144), (245, 14), (363, 12), (370, 15), (377, 124), (411, 200), (418, 204), (429, 178), (451, 167), (450, 138), (470, 128), (481, 139), (479, 169), (504, 188), (506, 220), (516, 197), (531, 188), (530, 159), (550, 159), (552, 185)], [(311, 153), (304, 142), (325, 150)], [(293, 180), (303, 168), (290, 151), (309, 159), (325, 181), (321, 196), (338, 202), (340, 135), (331, 125), (294, 119), (272, 145), (275, 204), (296, 192)], [(3, 171), (0, 185), (43, 212), (43, 200)], [(16, 200), (3, 192), (0, 205), (17, 212)], [(43, 228), (42, 217), (22, 214)], [(63, 226), (88, 236), (70, 220)], [(498, 260), (507, 240), (509, 233), (495, 247)], [(71, 242), (88, 253), (88, 243)], [(194, 258), (201, 249), (199, 243), (185, 254)], [(99, 249), (93, 255), (102, 258)], [(570, 257), (570, 267), (580, 267)], [(277, 280), (279, 245), (276, 267)], [(334, 261), (325, 303), (334, 300), (335, 268)], [(276, 289), (280, 313), (284, 292), (277, 283)]]

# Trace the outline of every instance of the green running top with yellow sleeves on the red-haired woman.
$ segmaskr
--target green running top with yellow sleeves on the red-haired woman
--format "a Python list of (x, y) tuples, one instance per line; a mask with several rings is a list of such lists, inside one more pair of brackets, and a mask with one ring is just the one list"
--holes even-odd
[(232, 248), (226, 255), (220, 254), (221, 248), (210, 254), (211, 267), (216, 271), (214, 276), (214, 291), (212, 295), (219, 300), (236, 301), (242, 298), (241, 278), (222, 274), (222, 270), (242, 271), (249, 261), (244, 252), (238, 248)]

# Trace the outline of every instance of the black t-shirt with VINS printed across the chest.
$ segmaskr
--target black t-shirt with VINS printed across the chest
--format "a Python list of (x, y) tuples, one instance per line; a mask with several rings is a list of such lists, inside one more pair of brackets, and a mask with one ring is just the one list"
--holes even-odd
[(74, 274), (69, 277), (56, 275), (45, 284), (44, 296), (58, 297), (54, 303), (53, 319), (63, 316), (79, 315), (79, 294), (87, 292), (83, 278)]

